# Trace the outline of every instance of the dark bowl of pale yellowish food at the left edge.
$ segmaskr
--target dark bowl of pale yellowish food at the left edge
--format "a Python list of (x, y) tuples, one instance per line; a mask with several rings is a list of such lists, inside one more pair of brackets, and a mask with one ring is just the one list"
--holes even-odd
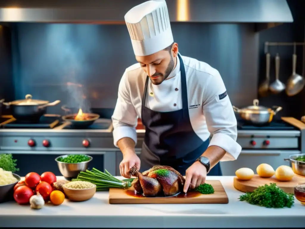
[(21, 180), (21, 177), (10, 171), (0, 168), (0, 203), (14, 199), (14, 186)]

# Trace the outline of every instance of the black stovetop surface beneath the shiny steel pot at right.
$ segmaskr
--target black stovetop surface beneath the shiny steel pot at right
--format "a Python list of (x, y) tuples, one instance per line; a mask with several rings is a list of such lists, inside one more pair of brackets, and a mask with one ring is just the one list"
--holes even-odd
[(270, 123), (265, 125), (254, 125), (245, 120), (237, 120), (237, 129), (239, 130), (295, 130), (297, 129), (293, 125), (278, 119), (272, 120)]

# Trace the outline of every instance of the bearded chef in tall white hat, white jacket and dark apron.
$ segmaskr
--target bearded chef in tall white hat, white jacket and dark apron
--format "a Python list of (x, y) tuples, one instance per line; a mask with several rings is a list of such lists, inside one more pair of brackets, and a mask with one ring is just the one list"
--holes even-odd
[[(112, 116), (114, 145), (123, 153), (120, 173), (168, 165), (186, 176), (184, 192), (221, 176), (219, 161), (237, 159), (237, 122), (220, 73), (182, 56), (174, 42), (164, 0), (130, 9), (125, 22), (137, 64), (119, 83)], [(140, 158), (135, 153), (137, 119), (145, 125)], [(210, 135), (212, 135), (211, 140)]]

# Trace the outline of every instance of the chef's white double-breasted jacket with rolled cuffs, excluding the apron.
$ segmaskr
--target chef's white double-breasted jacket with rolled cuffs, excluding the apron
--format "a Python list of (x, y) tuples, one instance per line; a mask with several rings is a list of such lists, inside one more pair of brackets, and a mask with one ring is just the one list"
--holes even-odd
[[(237, 159), (242, 149), (236, 142), (237, 121), (219, 72), (202, 61), (181, 57), (185, 67), (188, 112), (194, 132), (203, 141), (213, 135), (209, 146), (219, 146), (226, 151), (221, 161)], [(180, 61), (179, 58), (176, 60), (176, 67), (160, 85), (148, 81), (145, 107), (161, 112), (182, 108)], [(112, 115), (113, 143), (116, 147), (117, 141), (124, 137), (137, 143), (135, 127), (138, 117), (141, 118), (146, 77), (137, 63), (128, 67), (120, 80)]]

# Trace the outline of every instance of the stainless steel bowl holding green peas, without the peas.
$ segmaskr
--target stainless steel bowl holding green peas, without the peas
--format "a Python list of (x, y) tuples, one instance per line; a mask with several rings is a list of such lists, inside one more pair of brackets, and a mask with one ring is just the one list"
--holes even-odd
[(90, 159), (86, 162), (79, 162), (79, 163), (65, 163), (65, 162), (59, 162), (58, 158), (60, 157), (67, 157), (69, 154), (66, 155), (61, 155), (57, 158), (55, 158), (55, 161), (57, 162), (59, 172), (67, 179), (67, 180), (72, 180), (77, 177), (77, 175), (81, 171), (86, 171), (88, 168), (88, 163), (92, 161), (92, 157), (89, 155), (88, 156)]

